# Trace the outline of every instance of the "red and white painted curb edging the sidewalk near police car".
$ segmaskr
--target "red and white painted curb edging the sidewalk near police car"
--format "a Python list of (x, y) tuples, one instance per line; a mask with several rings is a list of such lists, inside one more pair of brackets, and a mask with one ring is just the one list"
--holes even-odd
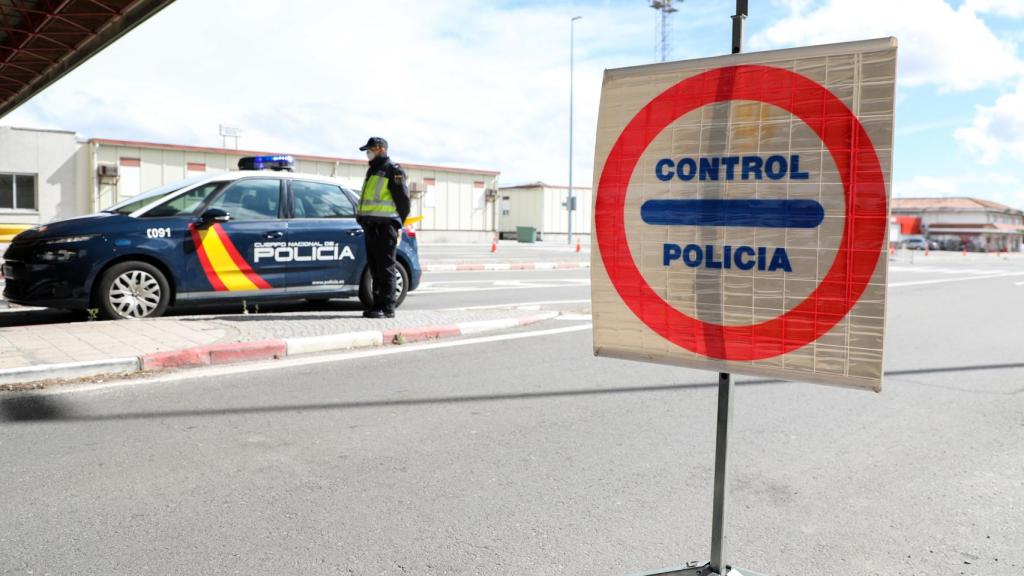
[(558, 315), (558, 312), (550, 311), (521, 318), (213, 344), (147, 354), (132, 358), (8, 368), (0, 370), (0, 384), (23, 384), (40, 380), (74, 379), (99, 375), (124, 375), (147, 370), (274, 360), (303, 354), (342, 352), (387, 344), (400, 344), (528, 326), (545, 320), (551, 320)]

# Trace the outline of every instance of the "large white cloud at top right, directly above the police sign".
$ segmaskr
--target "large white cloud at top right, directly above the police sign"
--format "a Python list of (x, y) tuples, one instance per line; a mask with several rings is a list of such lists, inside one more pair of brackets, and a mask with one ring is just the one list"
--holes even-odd
[(943, 0), (826, 0), (791, 12), (751, 44), (766, 49), (883, 36), (899, 39), (904, 85), (970, 90), (1024, 72), (1013, 43), (1000, 40), (971, 7), (953, 9)]

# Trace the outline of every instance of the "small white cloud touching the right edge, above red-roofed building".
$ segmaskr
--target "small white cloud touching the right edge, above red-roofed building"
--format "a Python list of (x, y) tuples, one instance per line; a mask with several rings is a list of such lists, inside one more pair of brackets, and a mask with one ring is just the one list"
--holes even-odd
[(1002, 158), (1024, 161), (1024, 82), (994, 105), (978, 107), (973, 124), (954, 135), (984, 164)]

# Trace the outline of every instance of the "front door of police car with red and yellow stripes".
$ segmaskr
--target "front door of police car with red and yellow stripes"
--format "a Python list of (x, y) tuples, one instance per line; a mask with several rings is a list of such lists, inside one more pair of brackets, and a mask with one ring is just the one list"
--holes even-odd
[(227, 184), (205, 207), (219, 209), (227, 221), (189, 227), (196, 257), (191, 278), (202, 278), (188, 298), (232, 298), (285, 291), (288, 223), (283, 218), (281, 178), (243, 178)]

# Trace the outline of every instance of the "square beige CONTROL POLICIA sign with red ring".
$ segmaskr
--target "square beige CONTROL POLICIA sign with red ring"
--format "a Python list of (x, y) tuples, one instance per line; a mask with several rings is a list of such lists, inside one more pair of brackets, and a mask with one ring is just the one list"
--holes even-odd
[(896, 39), (609, 70), (594, 353), (879, 390)]

